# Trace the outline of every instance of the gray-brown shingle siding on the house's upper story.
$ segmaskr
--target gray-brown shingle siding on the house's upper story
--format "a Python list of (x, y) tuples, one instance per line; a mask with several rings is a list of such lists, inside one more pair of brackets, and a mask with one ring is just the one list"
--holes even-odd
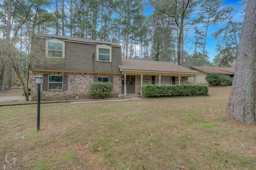
[[(45, 40), (40, 48), (45, 48)], [(45, 50), (41, 53), (45, 56)], [(96, 61), (96, 45), (65, 42), (65, 59), (58, 59), (55, 64), (35, 65), (34, 69), (120, 73), (118, 65), (122, 65), (121, 47), (112, 47), (109, 63)]]

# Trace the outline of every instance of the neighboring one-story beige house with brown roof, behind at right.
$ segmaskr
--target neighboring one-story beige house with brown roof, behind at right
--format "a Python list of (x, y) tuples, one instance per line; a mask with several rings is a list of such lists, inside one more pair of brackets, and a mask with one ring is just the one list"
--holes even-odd
[[(199, 71), (201, 75), (196, 76), (196, 84), (198, 85), (208, 85), (205, 77), (210, 73), (216, 73), (219, 75), (227, 75), (234, 77), (235, 68), (226, 68), (226, 67), (189, 67), (192, 70)], [(194, 81), (194, 77), (190, 77), (189, 81)]]

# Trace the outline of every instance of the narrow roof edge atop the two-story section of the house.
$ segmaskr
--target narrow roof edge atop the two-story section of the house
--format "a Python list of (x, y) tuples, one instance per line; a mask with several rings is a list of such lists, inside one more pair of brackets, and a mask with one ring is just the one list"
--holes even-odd
[(68, 37), (68, 36), (56, 36), (52, 34), (38, 34), (36, 37), (40, 38), (55, 38), (58, 40), (63, 40), (63, 41), (72, 41), (72, 42), (80, 42), (80, 43), (91, 43), (91, 44), (106, 44), (106, 45), (114, 45), (114, 46), (119, 46), (117, 43), (113, 42), (106, 42), (106, 41), (100, 41), (100, 40), (89, 40), (89, 39), (84, 39), (84, 38), (75, 38), (75, 37)]

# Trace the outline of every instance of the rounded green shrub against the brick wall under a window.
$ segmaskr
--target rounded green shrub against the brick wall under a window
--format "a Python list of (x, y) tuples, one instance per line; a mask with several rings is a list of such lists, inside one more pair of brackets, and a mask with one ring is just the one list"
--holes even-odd
[(94, 99), (102, 99), (113, 90), (113, 84), (109, 82), (94, 81), (89, 85), (89, 95)]

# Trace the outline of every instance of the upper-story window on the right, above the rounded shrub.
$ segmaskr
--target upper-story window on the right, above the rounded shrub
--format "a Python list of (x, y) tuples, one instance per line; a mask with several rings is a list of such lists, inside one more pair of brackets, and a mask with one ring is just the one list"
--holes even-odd
[(96, 47), (97, 61), (112, 62), (112, 50), (108, 45), (97, 45)]

